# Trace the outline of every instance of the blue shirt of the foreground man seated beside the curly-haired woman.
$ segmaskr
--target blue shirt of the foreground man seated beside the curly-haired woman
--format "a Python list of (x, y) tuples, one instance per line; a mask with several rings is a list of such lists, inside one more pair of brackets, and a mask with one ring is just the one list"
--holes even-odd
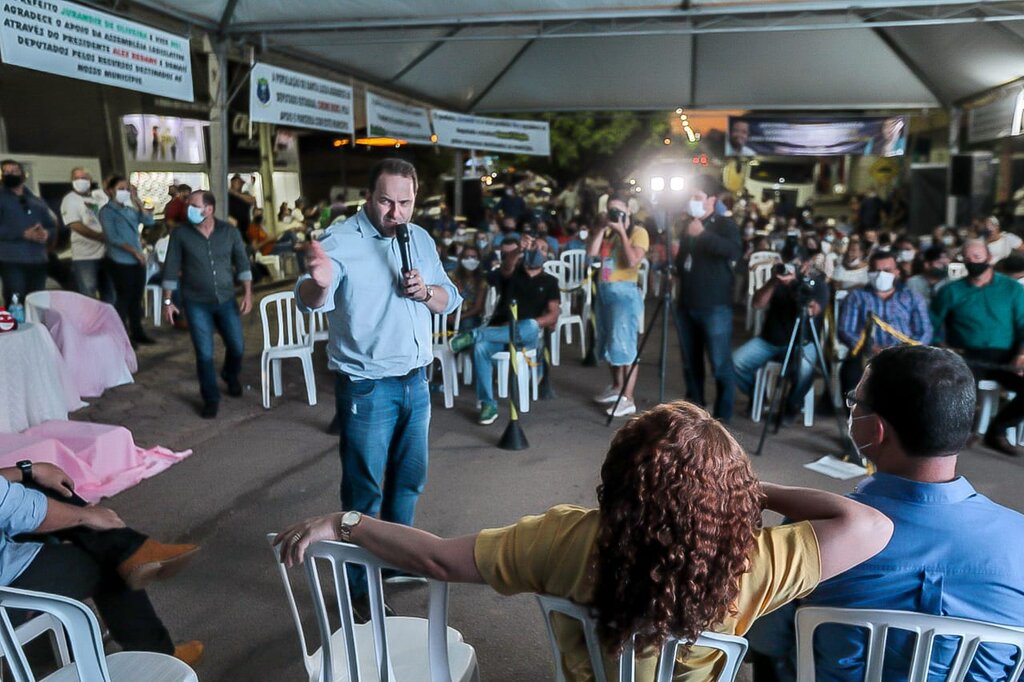
[[(801, 606), (896, 609), (1024, 627), (1024, 515), (978, 494), (963, 476), (921, 483), (878, 473), (849, 497), (891, 518), (892, 540), (872, 558), (819, 585)], [(752, 647), (764, 650), (759, 641), (795, 646), (793, 615), (791, 604), (759, 620), (749, 633)], [(936, 639), (930, 680), (946, 679), (956, 642)], [(909, 633), (890, 631), (882, 679), (906, 679), (912, 645)], [(1012, 650), (982, 647), (967, 679), (1006, 679)], [(821, 626), (814, 651), (816, 679), (863, 679), (862, 630)]]

